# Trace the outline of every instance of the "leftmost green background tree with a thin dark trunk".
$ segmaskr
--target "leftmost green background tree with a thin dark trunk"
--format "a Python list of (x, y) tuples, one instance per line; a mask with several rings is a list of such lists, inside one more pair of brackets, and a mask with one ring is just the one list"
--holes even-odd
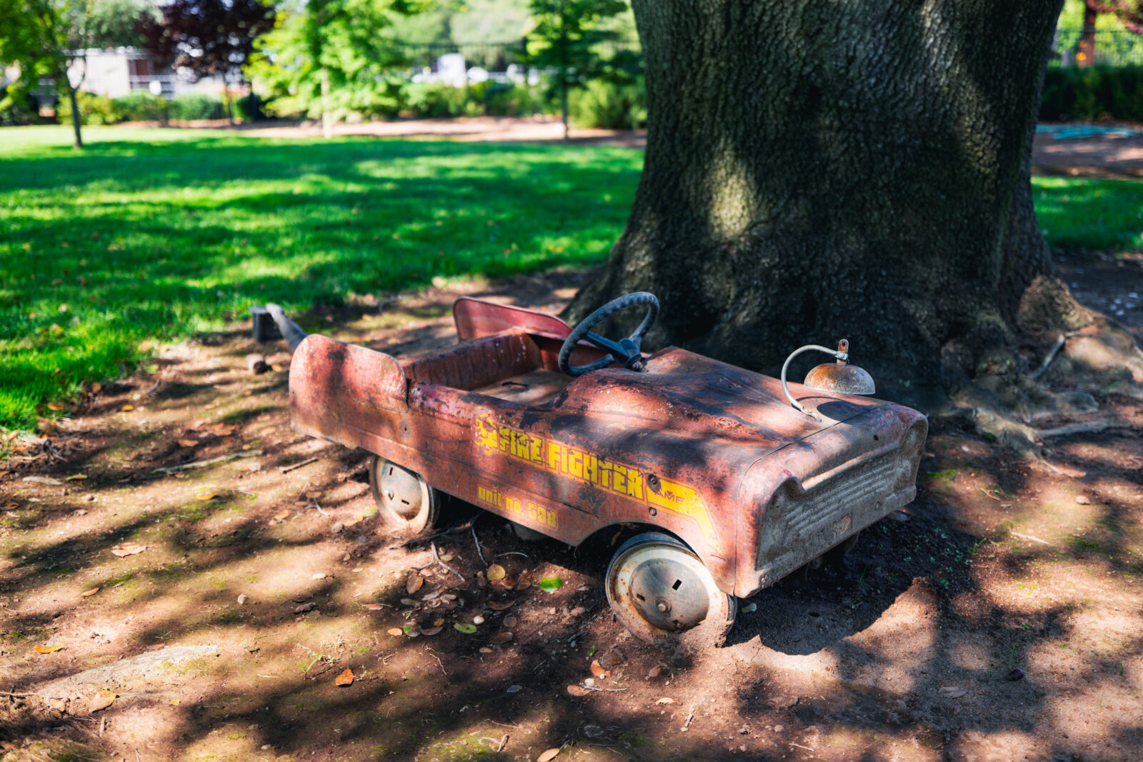
[(0, 99), (0, 110), (22, 104), (41, 79), (55, 83), (71, 104), (74, 145), (83, 147), (77, 93), (94, 46), (94, 0), (0, 0), (0, 63), (15, 64), (19, 80)]

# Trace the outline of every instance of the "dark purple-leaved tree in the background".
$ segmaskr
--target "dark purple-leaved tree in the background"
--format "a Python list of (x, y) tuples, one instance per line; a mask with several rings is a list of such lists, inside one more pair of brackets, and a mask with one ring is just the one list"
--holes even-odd
[[(241, 77), (254, 51), (254, 41), (274, 26), (275, 10), (262, 0), (171, 0), (162, 6), (161, 21), (146, 22), (141, 31), (147, 47), (185, 70), (194, 79)], [(233, 121), (230, 87), (226, 115)]]

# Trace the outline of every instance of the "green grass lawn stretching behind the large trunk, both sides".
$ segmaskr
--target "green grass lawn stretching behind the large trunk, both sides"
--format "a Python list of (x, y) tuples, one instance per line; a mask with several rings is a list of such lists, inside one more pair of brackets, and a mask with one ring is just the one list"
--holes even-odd
[[(601, 262), (642, 157), (628, 149), (213, 130), (0, 129), (0, 426), (123, 372), (144, 339), (299, 312), (435, 275)], [(1143, 247), (1143, 183), (1036, 178), (1061, 248)]]

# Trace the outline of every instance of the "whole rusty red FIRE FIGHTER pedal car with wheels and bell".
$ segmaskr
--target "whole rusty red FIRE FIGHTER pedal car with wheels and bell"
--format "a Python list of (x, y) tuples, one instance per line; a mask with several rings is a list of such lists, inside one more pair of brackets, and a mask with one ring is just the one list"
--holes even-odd
[[(591, 329), (646, 307), (636, 331)], [(280, 312), (280, 311), (279, 311)], [(749, 597), (909, 503), (927, 432), (865, 396), (845, 342), (807, 384), (678, 347), (640, 351), (650, 294), (574, 329), (549, 314), (461, 298), (459, 344), (397, 359), (296, 334), (296, 430), (374, 454), (381, 518), (427, 530), (447, 492), (570, 545), (623, 524), (606, 573), (618, 619), (645, 641), (720, 640)], [(290, 328), (296, 328), (290, 324)]]

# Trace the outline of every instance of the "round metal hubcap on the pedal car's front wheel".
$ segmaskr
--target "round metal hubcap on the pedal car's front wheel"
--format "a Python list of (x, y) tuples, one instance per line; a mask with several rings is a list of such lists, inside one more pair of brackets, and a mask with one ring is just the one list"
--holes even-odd
[(710, 593), (685, 563), (648, 559), (631, 572), (631, 604), (648, 623), (666, 631), (690, 629), (706, 618)]

